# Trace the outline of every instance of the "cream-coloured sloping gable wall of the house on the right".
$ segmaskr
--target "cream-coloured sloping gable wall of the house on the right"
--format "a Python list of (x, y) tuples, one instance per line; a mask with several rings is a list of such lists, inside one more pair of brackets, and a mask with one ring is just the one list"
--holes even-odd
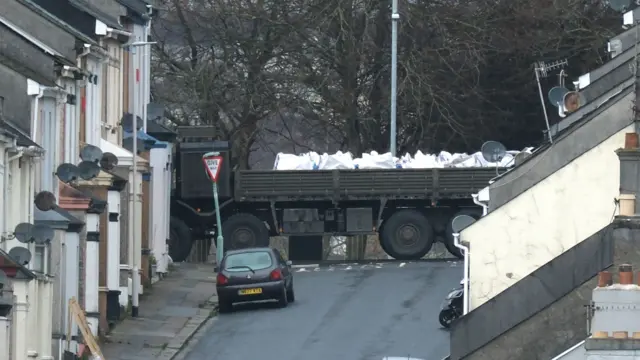
[[(632, 96), (607, 109), (601, 114), (603, 119), (596, 121), (630, 119)], [(614, 199), (619, 194), (615, 150), (624, 145), (624, 134), (630, 131), (632, 126), (615, 133), (462, 231), (462, 240), (469, 242), (472, 254), (470, 310), (612, 221)]]

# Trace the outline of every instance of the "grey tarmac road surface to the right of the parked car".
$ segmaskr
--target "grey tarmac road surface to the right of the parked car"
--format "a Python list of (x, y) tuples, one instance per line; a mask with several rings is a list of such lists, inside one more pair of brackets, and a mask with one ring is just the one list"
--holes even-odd
[(186, 360), (442, 359), (440, 304), (462, 278), (456, 262), (293, 269), (296, 302), (236, 305), (196, 336)]

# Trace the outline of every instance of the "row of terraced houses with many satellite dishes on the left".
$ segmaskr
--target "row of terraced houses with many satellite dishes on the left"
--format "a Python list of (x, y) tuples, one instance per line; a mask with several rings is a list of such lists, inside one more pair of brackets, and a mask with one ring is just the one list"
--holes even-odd
[(128, 44), (151, 15), (142, 0), (0, 0), (0, 359), (77, 354), (70, 299), (97, 335), (142, 293), (142, 222), (127, 225), (149, 207), (148, 161), (121, 125), (133, 96), (148, 103), (148, 56)]

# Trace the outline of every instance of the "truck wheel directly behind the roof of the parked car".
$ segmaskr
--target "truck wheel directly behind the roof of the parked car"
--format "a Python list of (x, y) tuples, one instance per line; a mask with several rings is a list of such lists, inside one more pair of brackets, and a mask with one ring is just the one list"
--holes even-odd
[(240, 213), (222, 224), (224, 250), (269, 246), (269, 230), (255, 215)]

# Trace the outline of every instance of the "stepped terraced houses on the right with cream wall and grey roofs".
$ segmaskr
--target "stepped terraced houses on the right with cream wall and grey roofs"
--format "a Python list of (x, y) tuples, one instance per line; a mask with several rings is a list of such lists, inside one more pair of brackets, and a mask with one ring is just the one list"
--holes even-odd
[(637, 132), (636, 41), (631, 28), (603, 44), (611, 59), (575, 79), (585, 104), (552, 126), (552, 142), (489, 186), (488, 214), (462, 231), (470, 312), (451, 333), (452, 360), (552, 359), (581, 349), (595, 276), (637, 260), (631, 233), (612, 224), (618, 199), (635, 194), (620, 175), (632, 157), (618, 149)]

